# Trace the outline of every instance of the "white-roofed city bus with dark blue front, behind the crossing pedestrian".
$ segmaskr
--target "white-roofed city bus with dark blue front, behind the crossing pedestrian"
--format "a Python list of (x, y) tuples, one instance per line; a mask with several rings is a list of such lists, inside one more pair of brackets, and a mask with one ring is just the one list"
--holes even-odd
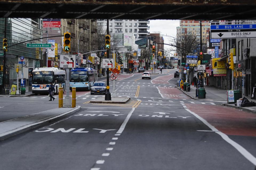
[(65, 70), (57, 67), (41, 67), (32, 71), (32, 93), (35, 95), (48, 93), (49, 83), (52, 82), (55, 94), (58, 94), (58, 87), (65, 90)]

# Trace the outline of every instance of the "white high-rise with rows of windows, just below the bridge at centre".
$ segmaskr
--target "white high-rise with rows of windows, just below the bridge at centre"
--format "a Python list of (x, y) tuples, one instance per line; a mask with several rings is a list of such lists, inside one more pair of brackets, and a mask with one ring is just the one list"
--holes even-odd
[[(143, 19), (110, 19), (109, 20), (109, 32), (111, 33), (134, 33), (135, 40), (143, 39), (149, 35), (147, 31), (149, 29), (149, 20)], [(107, 28), (107, 20), (98, 19), (98, 26)]]

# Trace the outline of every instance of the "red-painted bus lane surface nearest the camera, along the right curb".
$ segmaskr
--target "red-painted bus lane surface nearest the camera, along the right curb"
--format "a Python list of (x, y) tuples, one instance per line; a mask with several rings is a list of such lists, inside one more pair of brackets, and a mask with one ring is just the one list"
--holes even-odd
[[(186, 107), (227, 135), (256, 137), (256, 114), (218, 105), (185, 104)], [(204, 130), (204, 129), (198, 129)]]

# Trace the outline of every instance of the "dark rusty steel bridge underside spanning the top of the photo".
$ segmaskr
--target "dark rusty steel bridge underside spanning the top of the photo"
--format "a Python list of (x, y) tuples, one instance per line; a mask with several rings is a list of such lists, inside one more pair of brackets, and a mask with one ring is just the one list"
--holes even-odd
[(0, 17), (86, 19), (256, 18), (254, 0), (0, 0)]

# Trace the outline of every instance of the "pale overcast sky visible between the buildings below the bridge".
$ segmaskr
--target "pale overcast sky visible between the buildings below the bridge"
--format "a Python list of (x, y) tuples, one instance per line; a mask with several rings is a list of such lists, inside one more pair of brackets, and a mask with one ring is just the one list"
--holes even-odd
[[(176, 27), (179, 26), (179, 20), (150, 20), (150, 33), (154, 33), (154, 31), (160, 31), (161, 35), (169, 35), (172, 37), (176, 37)], [(163, 36), (164, 43), (169, 44), (171, 37)], [(164, 45), (165, 50), (171, 48), (169, 45)]]

